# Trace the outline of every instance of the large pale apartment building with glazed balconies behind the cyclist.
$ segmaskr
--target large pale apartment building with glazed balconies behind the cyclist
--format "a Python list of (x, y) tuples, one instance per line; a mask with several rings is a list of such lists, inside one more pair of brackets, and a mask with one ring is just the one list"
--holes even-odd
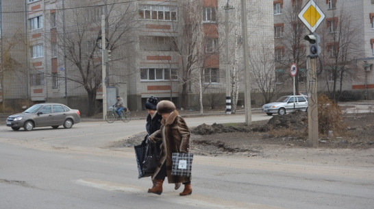
[[(130, 110), (142, 110), (150, 96), (171, 99), (179, 107), (182, 104), (197, 107), (199, 84), (203, 86), (205, 105), (212, 102), (224, 105), (227, 82), (222, 7), (226, 3), (223, 0), (113, 0), (106, 4), (88, 0), (25, 0), (18, 8), (5, 8), (2, 3), (2, 10), (16, 11), (1, 13), (2, 31), (11, 37), (13, 32), (9, 28), (18, 19), (23, 25), (19, 37), (24, 40), (18, 41), (22, 48), (18, 51), (22, 53), (14, 56), (23, 64), (16, 67), (23, 70), (22, 76), (16, 77), (22, 85), (14, 90), (16, 84), (11, 80), (15, 78), (3, 76), (3, 98), (10, 103), (16, 103), (17, 99), (61, 102), (83, 112), (88, 102), (100, 107), (103, 80), (99, 40), (101, 14), (105, 14), (107, 49), (111, 50), (105, 84), (111, 94), (124, 97)], [(229, 24), (237, 28), (230, 27), (229, 49), (237, 55), (242, 93), (240, 1), (230, 3), (236, 11), (229, 14), (236, 13), (237, 18)], [(255, 57), (260, 42), (273, 47), (273, 8), (271, 2), (258, 0), (249, 1), (247, 8), (256, 8), (247, 12), (249, 46), (251, 56)], [(6, 16), (11, 14), (16, 18)], [(5, 24), (5, 19), (11, 23)], [(194, 25), (191, 21), (197, 25), (192, 35), (188, 34)], [(4, 42), (5, 36), (1, 40)], [(189, 48), (194, 42), (199, 44)], [(191, 61), (193, 56), (195, 60)], [(213, 100), (219, 97), (222, 99)]]

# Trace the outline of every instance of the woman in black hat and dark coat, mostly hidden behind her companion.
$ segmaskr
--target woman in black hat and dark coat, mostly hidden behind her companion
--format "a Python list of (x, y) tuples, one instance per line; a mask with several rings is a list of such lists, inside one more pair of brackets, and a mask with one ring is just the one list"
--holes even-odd
[[(147, 130), (147, 136), (145, 136), (144, 140), (142, 141), (142, 145), (147, 145), (149, 143), (148, 136), (153, 134), (155, 131), (160, 130), (162, 116), (157, 113), (157, 110), (156, 110), (157, 103), (158, 103), (157, 97), (149, 97), (147, 99), (147, 102), (145, 103), (145, 109), (148, 111), (147, 123), (145, 124), (145, 129)], [(162, 143), (161, 141), (156, 143), (158, 155), (160, 155), (161, 143)], [(166, 177), (166, 173), (164, 174), (160, 173), (160, 175), (158, 176), (158, 178), (160, 179), (164, 179), (165, 177)], [(151, 180), (153, 183), (153, 186), (152, 186), (153, 188), (155, 187), (157, 182), (156, 182), (156, 179), (152, 178)]]

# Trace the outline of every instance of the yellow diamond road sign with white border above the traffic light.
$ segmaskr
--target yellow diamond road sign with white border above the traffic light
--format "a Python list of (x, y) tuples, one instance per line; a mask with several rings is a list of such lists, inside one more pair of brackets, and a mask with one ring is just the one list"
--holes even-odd
[(299, 19), (314, 33), (319, 24), (325, 19), (325, 14), (319, 9), (313, 0), (310, 0), (299, 13)]

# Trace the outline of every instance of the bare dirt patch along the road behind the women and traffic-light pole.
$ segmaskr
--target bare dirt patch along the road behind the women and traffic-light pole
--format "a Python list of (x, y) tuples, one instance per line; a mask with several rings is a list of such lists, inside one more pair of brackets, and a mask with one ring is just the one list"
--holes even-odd
[[(319, 137), (321, 149), (369, 149), (374, 148), (374, 114), (347, 114), (344, 133), (330, 133)], [(269, 121), (206, 125), (191, 129), (191, 151), (202, 156), (279, 156), (282, 150), (312, 147), (305, 134), (308, 119), (305, 112), (283, 116), (274, 115)], [(273, 136), (271, 132), (284, 132), (286, 136)], [(291, 134), (290, 134), (291, 132)], [(292, 134), (297, 132), (298, 134)], [(304, 133), (304, 134), (300, 134)], [(113, 143), (110, 147), (138, 145), (145, 133)]]

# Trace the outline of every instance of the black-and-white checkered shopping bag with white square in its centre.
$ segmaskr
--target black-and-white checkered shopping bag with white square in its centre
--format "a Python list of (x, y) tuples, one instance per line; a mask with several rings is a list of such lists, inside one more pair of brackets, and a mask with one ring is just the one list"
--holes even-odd
[(193, 153), (173, 153), (171, 156), (171, 160), (173, 160), (171, 175), (190, 176), (192, 170), (192, 159)]

